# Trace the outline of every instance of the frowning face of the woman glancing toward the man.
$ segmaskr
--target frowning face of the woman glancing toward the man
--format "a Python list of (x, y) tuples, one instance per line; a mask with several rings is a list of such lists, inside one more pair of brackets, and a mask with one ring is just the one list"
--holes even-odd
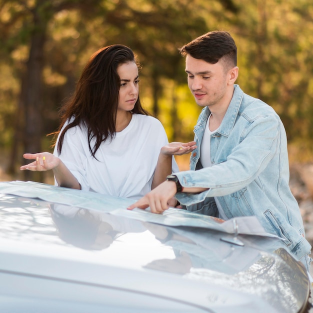
[(133, 109), (139, 94), (138, 67), (135, 62), (127, 62), (117, 67), (120, 78), (117, 110)]

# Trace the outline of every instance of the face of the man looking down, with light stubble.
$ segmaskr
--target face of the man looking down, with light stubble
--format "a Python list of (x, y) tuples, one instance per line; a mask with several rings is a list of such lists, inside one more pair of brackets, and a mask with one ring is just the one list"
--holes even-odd
[(229, 104), (227, 97), (229, 75), (222, 61), (211, 64), (187, 54), (185, 71), (188, 75), (188, 87), (198, 105), (208, 106), (212, 110), (216, 106)]

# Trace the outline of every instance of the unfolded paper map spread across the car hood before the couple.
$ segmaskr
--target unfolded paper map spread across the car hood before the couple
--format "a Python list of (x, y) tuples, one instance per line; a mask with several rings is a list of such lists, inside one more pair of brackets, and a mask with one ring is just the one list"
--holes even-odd
[(133, 210), (127, 210), (126, 207), (132, 204), (135, 200), (33, 181), (16, 180), (0, 182), (0, 193), (27, 198), (39, 198), (47, 202), (106, 212), (117, 216), (167, 226), (192, 226), (214, 229), (227, 233), (237, 232), (240, 234), (277, 237), (266, 232), (255, 216), (239, 216), (221, 222), (220, 219), (213, 216), (193, 213), (175, 207), (169, 207), (162, 214), (151, 213), (149, 208), (134, 208)]

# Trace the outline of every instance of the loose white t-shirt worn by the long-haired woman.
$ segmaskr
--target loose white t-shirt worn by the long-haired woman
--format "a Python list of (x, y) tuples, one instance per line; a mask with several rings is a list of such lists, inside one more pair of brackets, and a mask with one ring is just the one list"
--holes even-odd
[[(164, 127), (158, 119), (133, 114), (125, 129), (116, 132), (112, 140), (101, 143), (95, 152), (96, 158), (89, 151), (86, 127), (68, 129), (59, 158), (82, 190), (139, 199), (151, 190), (160, 148), (167, 143)], [(91, 147), (93, 144), (91, 141)], [(53, 154), (58, 156), (56, 146), (57, 143)], [(173, 157), (172, 172), (178, 170)]]

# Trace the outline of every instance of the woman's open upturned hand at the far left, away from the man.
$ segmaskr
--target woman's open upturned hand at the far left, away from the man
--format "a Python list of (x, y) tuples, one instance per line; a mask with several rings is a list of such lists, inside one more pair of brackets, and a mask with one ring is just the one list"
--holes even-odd
[(53, 169), (60, 164), (60, 159), (49, 152), (40, 152), (34, 154), (24, 153), (23, 157), (26, 159), (34, 159), (34, 161), (29, 164), (20, 166), (20, 170), (28, 169), (32, 171), (44, 171)]

